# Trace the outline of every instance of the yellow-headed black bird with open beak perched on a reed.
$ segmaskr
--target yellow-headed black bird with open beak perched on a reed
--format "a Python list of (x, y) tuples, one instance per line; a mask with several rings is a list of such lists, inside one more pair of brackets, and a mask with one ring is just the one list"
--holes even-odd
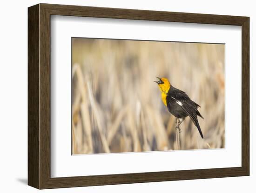
[[(189, 116), (203, 139), (202, 130), (197, 119), (197, 116), (204, 119), (198, 111), (198, 108), (201, 106), (192, 101), (184, 91), (176, 89), (174, 86), (172, 86), (167, 78), (156, 78), (158, 78), (158, 80), (154, 82), (158, 84), (161, 91), (162, 102), (165, 106), (167, 106), (168, 111), (176, 117), (176, 123), (178, 121), (176, 129), (179, 129), (180, 132), (180, 124), (187, 116)], [(182, 121), (180, 121), (180, 119), (182, 119)]]

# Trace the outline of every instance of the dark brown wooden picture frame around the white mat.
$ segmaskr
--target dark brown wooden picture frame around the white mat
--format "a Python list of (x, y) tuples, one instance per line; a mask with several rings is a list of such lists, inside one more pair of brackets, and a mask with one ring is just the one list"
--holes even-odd
[[(242, 26), (242, 167), (51, 178), (51, 15)], [(38, 4), (28, 8), (28, 185), (39, 189), (249, 175), (249, 17)]]

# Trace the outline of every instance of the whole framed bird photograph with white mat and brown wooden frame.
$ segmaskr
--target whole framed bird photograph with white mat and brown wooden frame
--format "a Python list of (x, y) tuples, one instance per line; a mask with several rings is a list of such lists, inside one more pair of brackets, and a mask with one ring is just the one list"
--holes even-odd
[(249, 175), (249, 17), (28, 8), (28, 185)]

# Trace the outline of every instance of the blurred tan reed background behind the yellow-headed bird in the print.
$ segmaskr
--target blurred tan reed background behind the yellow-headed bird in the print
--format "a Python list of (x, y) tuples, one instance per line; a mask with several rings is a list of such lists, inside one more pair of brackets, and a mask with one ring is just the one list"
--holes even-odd
[(224, 45), (72, 38), (72, 153), (175, 150), (156, 76), (202, 107), (180, 149), (224, 148)]

